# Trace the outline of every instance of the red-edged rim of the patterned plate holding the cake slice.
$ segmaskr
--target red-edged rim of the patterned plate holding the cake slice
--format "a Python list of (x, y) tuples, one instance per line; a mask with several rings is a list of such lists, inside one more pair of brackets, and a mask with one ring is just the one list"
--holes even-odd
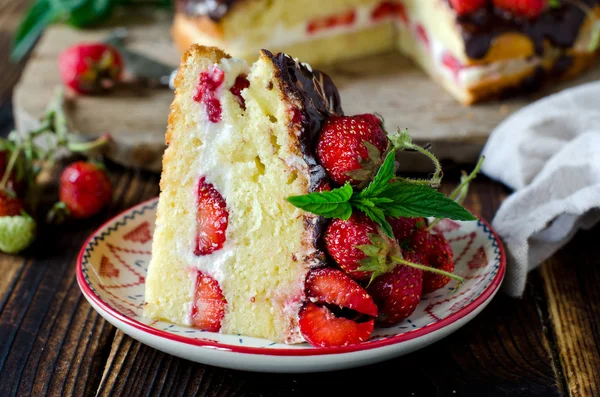
[[(175, 342), (184, 343), (187, 345), (193, 345), (208, 349), (217, 349), (221, 351), (228, 351), (233, 353), (242, 353), (242, 354), (257, 354), (257, 355), (267, 355), (267, 356), (320, 356), (327, 354), (340, 354), (340, 353), (351, 353), (358, 351), (365, 351), (376, 349), (385, 346), (395, 345), (400, 342), (406, 342), (408, 340), (416, 339), (428, 334), (431, 334), (434, 331), (437, 331), (441, 328), (447, 327), (452, 323), (460, 320), (461, 318), (469, 315), (471, 312), (476, 310), (479, 306), (487, 302), (487, 300), (493, 296), (493, 294), (498, 290), (502, 280), (504, 279), (504, 273), (506, 271), (506, 255), (504, 252), (504, 247), (500, 238), (496, 234), (496, 232), (491, 228), (491, 226), (484, 221), (483, 219), (479, 219), (479, 223), (483, 226), (485, 232), (488, 233), (490, 237), (493, 237), (495, 242), (495, 247), (498, 249), (499, 255), (499, 264), (498, 271), (494, 276), (494, 279), (490, 282), (488, 287), (473, 301), (465, 305), (463, 308), (459, 309), (457, 312), (449, 315), (448, 317), (444, 317), (443, 319), (436, 321), (434, 323), (425, 325), (422, 328), (416, 329), (414, 331), (403, 332), (401, 334), (390, 336), (383, 339), (377, 339), (373, 341), (366, 341), (356, 345), (350, 345), (346, 347), (326, 347), (326, 348), (308, 348), (308, 349), (282, 349), (282, 348), (264, 348), (264, 347), (247, 347), (247, 346), (236, 346), (229, 345), (222, 342), (214, 342), (201, 338), (189, 338), (183, 337), (180, 335), (174, 335), (169, 332), (165, 332), (156, 328), (153, 328), (149, 325), (141, 323), (137, 320), (134, 320), (130, 317), (127, 317), (123, 313), (114, 309), (111, 305), (106, 303), (100, 296), (98, 296), (90, 287), (87, 280), (83, 274), (83, 261), (87, 251), (94, 248), (98, 244), (94, 242), (94, 238), (101, 235), (101, 233), (110, 227), (110, 225), (115, 224), (119, 221), (119, 219), (124, 218), (126, 216), (131, 217), (131, 214), (135, 214), (136, 211), (140, 213), (140, 208), (147, 207), (149, 204), (154, 203), (158, 200), (158, 197), (146, 200), (140, 204), (137, 204), (120, 214), (116, 215), (109, 221), (105, 222), (102, 226), (96, 229), (90, 237), (83, 244), (81, 251), (79, 252), (79, 256), (77, 257), (77, 265), (76, 265), (76, 276), (77, 283), (83, 294), (91, 299), (96, 305), (98, 305), (105, 313), (114, 317), (118, 321), (125, 323), (133, 328), (138, 329), (139, 331), (149, 333), (154, 336), (158, 336), (161, 338), (170, 339)], [(145, 209), (144, 209), (145, 210)], [(143, 212), (143, 211), (142, 211)], [(141, 214), (141, 213), (140, 213)]]

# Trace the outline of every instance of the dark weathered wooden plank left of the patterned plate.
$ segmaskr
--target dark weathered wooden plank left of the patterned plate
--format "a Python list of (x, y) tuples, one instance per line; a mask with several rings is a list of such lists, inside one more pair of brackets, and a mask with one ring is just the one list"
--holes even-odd
[[(81, 244), (107, 217), (158, 193), (158, 178), (111, 169), (115, 200), (88, 221), (42, 226), (15, 266), (16, 281), (0, 312), (0, 395), (93, 395), (100, 383), (115, 329), (82, 297), (74, 264)], [(0, 258), (0, 269), (19, 257)], [(23, 259), (21, 259), (21, 263)]]

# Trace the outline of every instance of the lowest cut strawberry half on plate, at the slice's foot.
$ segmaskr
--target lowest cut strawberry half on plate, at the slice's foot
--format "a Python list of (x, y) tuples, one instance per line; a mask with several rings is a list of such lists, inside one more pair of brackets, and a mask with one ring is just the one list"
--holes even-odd
[(375, 327), (373, 318), (357, 322), (337, 317), (325, 306), (306, 303), (300, 309), (300, 332), (315, 347), (348, 346), (363, 342), (371, 336)]

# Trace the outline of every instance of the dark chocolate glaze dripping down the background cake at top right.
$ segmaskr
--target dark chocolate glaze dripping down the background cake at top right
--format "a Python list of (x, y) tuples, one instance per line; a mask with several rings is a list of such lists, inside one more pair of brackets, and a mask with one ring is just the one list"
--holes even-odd
[[(598, 4), (598, 0), (581, 2), (589, 7)], [(494, 38), (511, 32), (528, 36), (538, 55), (544, 52), (545, 40), (555, 47), (569, 48), (575, 43), (585, 19), (585, 11), (570, 3), (549, 9), (533, 19), (513, 17), (490, 5), (473, 14), (459, 16), (457, 23), (462, 30), (467, 55), (481, 59), (488, 53)]]

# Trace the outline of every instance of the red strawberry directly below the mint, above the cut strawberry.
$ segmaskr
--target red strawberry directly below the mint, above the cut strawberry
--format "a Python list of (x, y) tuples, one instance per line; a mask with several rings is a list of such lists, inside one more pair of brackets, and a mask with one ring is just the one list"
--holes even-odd
[(369, 234), (377, 234), (375, 222), (362, 213), (354, 213), (347, 221), (334, 219), (325, 231), (329, 255), (350, 277), (367, 280), (369, 272), (357, 272), (366, 254), (358, 246), (371, 244)]

